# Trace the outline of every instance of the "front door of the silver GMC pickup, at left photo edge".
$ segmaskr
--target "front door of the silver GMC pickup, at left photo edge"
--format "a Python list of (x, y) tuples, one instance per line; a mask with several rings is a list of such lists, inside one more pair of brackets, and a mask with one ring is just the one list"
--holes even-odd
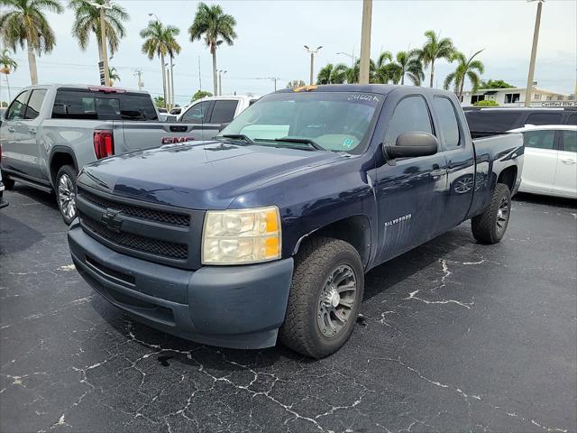
[(24, 172), (22, 154), (22, 120), (26, 111), (26, 102), (30, 96), (30, 90), (24, 90), (15, 97), (12, 104), (6, 110), (5, 120), (2, 123), (2, 165), (5, 169)]

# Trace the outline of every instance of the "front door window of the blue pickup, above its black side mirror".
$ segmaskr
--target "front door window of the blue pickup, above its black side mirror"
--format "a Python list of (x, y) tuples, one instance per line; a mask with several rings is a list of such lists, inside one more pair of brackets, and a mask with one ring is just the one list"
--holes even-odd
[(422, 97), (406, 97), (395, 107), (390, 119), (385, 143), (395, 144), (397, 137), (404, 133), (433, 133), (431, 116)]

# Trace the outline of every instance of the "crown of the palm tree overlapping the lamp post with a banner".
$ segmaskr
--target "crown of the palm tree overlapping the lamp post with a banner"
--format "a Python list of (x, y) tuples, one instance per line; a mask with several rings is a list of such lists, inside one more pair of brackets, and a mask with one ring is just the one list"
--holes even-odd
[[(82, 51), (86, 51), (90, 34), (96, 36), (98, 45), (98, 60), (103, 61), (102, 45), (100, 43), (100, 9), (96, 4), (102, 5), (105, 0), (69, 0), (69, 8), (74, 10), (74, 23), (72, 23), (72, 36), (78, 39), (78, 45)], [(126, 31), (124, 21), (128, 21), (129, 15), (121, 5), (112, 4), (105, 8), (105, 33), (110, 54), (118, 51), (118, 44)], [(111, 78), (112, 79), (112, 78)]]

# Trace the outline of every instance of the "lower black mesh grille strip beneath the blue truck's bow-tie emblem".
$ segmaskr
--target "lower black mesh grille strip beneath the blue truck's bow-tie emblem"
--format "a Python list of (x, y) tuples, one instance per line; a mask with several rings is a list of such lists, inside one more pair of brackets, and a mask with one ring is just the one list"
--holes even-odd
[(105, 224), (81, 213), (80, 222), (87, 227), (89, 232), (102, 236), (113, 244), (131, 248), (136, 252), (156, 254), (169, 259), (188, 259), (188, 248), (186, 244), (160, 241), (150, 237), (133, 235), (132, 233), (115, 233), (105, 226)]

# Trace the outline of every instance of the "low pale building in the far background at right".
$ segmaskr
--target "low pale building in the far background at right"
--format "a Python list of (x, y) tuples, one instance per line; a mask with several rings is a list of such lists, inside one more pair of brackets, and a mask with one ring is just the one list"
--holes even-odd
[[(463, 92), (463, 106), (472, 106), (478, 101), (495, 101), (499, 106), (525, 106), (527, 88), (481, 88), (476, 92)], [(543, 88), (533, 88), (531, 106), (577, 106), (575, 95), (564, 95)]]

